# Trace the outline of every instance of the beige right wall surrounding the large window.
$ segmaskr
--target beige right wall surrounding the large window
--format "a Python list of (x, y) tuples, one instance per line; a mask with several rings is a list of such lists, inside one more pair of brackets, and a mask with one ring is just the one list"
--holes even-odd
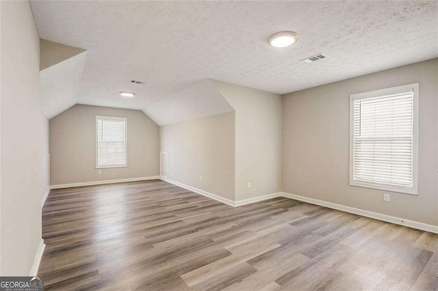
[[(433, 59), (283, 96), (283, 191), (438, 225), (437, 66)], [(349, 186), (350, 94), (417, 82), (419, 195)]]

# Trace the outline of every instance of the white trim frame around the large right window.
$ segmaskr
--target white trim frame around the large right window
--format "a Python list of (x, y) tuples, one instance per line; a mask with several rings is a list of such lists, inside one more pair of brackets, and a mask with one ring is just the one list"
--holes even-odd
[[(378, 89), (370, 92), (363, 92), (350, 95), (350, 186), (359, 186), (371, 189), (385, 190), (398, 193), (406, 193), (411, 195), (418, 195), (418, 111), (419, 111), (419, 83), (412, 83), (408, 85), (401, 85), (386, 89)], [(398, 94), (402, 92), (413, 91), (413, 183), (411, 187), (404, 186), (387, 186), (383, 184), (374, 184), (366, 182), (355, 182), (353, 180), (353, 130), (354, 130), (354, 113), (353, 103), (355, 100), (372, 98), (384, 95)]]

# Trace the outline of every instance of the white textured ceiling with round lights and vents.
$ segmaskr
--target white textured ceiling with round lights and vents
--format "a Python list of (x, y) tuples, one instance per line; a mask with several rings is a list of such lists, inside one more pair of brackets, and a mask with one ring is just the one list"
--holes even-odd
[[(77, 102), (152, 115), (155, 103), (206, 78), (284, 94), (438, 57), (437, 5), (31, 1), (41, 38), (88, 50)], [(268, 36), (281, 30), (298, 32), (298, 42), (268, 46)], [(300, 61), (316, 53), (326, 58)], [(136, 98), (120, 98), (122, 90)]]

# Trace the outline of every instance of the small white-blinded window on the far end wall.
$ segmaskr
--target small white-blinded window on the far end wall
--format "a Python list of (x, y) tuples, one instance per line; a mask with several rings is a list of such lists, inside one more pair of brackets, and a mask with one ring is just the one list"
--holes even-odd
[(96, 168), (127, 167), (125, 117), (96, 116)]

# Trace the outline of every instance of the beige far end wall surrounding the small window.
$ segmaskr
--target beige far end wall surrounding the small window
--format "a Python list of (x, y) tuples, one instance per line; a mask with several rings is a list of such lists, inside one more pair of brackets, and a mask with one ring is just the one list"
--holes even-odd
[[(96, 169), (95, 116), (127, 117), (128, 167)], [(159, 128), (142, 111), (75, 105), (50, 120), (51, 185), (158, 176)]]

